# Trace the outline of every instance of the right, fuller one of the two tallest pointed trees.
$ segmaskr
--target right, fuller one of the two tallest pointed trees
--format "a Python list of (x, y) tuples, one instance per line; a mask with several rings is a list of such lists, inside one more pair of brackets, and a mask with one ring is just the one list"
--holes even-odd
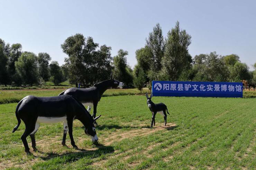
[(192, 63), (192, 57), (188, 52), (190, 44), (191, 36), (180, 28), (180, 23), (177, 21), (176, 26), (167, 33), (162, 59), (162, 76), (168, 76), (168, 80), (177, 80), (183, 71), (190, 69)]

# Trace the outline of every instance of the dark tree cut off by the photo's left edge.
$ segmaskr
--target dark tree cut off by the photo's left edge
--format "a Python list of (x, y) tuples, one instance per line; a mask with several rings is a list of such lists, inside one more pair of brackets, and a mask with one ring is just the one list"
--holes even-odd
[(0, 44), (0, 83), (5, 86), (9, 83), (8, 57), (4, 52), (2, 44)]

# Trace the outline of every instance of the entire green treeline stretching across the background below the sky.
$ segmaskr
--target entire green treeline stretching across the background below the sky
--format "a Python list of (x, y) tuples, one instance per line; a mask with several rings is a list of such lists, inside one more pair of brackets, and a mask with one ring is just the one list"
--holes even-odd
[[(59, 84), (81, 83), (84, 87), (109, 79), (111, 71), (115, 79), (127, 88), (139, 90), (152, 80), (170, 81), (236, 81), (256, 82), (256, 70), (249, 71), (239, 56), (221, 56), (215, 51), (191, 57), (188, 47), (191, 36), (176, 22), (164, 38), (159, 23), (146, 38), (145, 47), (136, 51), (134, 69), (127, 63), (128, 52), (120, 49), (111, 56), (111, 47), (99, 46), (92, 37), (77, 33), (68, 37), (61, 48), (67, 54), (65, 64), (59, 66), (47, 53), (23, 52), (21, 44), (5, 43), (0, 39), (0, 83), (4, 85), (33, 85), (52, 81)], [(256, 69), (256, 63), (254, 64)]]

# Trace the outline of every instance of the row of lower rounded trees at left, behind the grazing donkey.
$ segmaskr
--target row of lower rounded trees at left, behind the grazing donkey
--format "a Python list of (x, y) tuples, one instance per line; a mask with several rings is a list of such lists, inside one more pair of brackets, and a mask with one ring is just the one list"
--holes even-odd
[(47, 53), (22, 51), (19, 43), (5, 43), (0, 39), (0, 83), (14, 86), (41, 84), (52, 81), (59, 84), (65, 81), (65, 74), (57, 61), (51, 61)]

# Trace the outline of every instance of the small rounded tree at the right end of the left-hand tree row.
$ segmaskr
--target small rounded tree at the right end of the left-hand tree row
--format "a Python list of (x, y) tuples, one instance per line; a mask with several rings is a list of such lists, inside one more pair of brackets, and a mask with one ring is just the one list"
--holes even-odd
[(49, 65), (51, 78), (50, 80), (54, 83), (54, 85), (60, 84), (63, 79), (63, 73), (59, 63), (57, 61), (52, 61)]

